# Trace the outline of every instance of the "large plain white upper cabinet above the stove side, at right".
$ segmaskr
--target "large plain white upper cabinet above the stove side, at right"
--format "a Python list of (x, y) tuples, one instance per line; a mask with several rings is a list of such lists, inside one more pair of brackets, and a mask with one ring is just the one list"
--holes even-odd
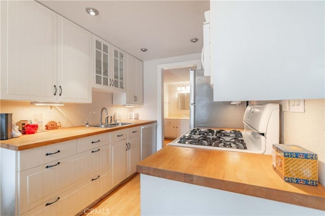
[(214, 101), (325, 98), (323, 1), (211, 1)]

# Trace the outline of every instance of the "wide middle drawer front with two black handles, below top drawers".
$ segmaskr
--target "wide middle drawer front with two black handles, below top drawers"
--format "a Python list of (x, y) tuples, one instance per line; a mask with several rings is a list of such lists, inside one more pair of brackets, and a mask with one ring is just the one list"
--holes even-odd
[(19, 172), (19, 210), (25, 212), (109, 169), (110, 146)]

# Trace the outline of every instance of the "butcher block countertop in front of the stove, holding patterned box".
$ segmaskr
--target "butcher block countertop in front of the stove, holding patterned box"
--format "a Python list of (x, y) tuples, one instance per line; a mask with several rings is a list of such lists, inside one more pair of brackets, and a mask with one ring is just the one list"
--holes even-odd
[(166, 146), (141, 161), (142, 174), (325, 210), (325, 189), (286, 183), (272, 156)]

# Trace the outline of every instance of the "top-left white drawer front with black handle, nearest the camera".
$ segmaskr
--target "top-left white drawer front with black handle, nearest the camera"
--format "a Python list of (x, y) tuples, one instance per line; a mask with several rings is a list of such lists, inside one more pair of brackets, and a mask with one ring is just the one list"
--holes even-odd
[(77, 139), (18, 152), (18, 171), (77, 154)]

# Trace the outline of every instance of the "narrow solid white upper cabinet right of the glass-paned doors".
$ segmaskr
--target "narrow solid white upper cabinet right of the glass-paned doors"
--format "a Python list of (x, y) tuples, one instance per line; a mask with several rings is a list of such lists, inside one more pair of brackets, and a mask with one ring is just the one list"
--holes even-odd
[(143, 62), (127, 55), (127, 104), (143, 104)]

